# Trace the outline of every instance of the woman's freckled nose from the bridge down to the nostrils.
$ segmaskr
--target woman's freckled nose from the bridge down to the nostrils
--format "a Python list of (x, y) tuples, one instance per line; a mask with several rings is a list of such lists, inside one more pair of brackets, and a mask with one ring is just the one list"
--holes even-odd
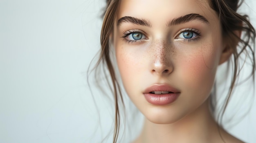
[(152, 45), (152, 53), (154, 53), (152, 61), (152, 73), (171, 73), (173, 66), (171, 64), (171, 44), (165, 40), (156, 40)]

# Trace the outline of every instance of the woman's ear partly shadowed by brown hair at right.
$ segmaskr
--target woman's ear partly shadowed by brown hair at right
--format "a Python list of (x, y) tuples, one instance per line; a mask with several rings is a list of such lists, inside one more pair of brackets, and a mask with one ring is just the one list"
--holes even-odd
[(234, 49), (238, 45), (239, 39), (241, 37), (241, 31), (236, 30), (233, 31), (234, 35), (230, 34), (229, 37), (224, 38), (225, 42), (223, 42), (224, 47), (222, 49), (222, 54), (220, 56), (219, 65), (226, 62), (229, 57), (232, 55)]

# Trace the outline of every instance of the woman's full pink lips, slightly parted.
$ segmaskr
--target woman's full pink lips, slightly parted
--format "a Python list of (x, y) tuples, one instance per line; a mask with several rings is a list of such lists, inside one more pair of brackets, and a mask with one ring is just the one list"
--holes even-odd
[[(169, 91), (173, 93), (157, 95), (157, 94), (150, 93), (152, 91)], [(175, 101), (177, 97), (180, 95), (180, 92), (177, 89), (169, 86), (168, 84), (162, 84), (162, 85), (150, 86), (144, 91), (143, 94), (146, 100), (151, 104), (167, 105)]]

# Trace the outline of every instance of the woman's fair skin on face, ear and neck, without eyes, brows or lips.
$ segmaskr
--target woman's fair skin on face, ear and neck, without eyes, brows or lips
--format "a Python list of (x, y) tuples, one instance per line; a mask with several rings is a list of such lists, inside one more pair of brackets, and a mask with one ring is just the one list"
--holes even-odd
[[(192, 20), (166, 26), (169, 20), (190, 13), (204, 16), (209, 23)], [(146, 19), (151, 26), (117, 25), (124, 16)], [(124, 33), (132, 29), (144, 35), (141, 40), (128, 42), (132, 36)], [(185, 40), (182, 29), (196, 29), (200, 35)], [(209, 111), (217, 67), (231, 52), (207, 0), (121, 0), (112, 36), (124, 88), (146, 117), (135, 143), (242, 143), (220, 129), (222, 139)], [(168, 84), (180, 96), (168, 105), (150, 104), (143, 93), (154, 84)]]

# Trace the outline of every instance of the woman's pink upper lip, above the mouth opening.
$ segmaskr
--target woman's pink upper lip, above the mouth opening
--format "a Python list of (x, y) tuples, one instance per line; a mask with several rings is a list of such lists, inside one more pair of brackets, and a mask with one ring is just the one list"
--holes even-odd
[(176, 88), (173, 88), (172, 86), (170, 86), (168, 84), (154, 84), (153, 86), (146, 88), (146, 90), (144, 90), (143, 93), (150, 93), (153, 91), (169, 91), (169, 92), (173, 92), (173, 93), (180, 92), (179, 90), (177, 90)]

